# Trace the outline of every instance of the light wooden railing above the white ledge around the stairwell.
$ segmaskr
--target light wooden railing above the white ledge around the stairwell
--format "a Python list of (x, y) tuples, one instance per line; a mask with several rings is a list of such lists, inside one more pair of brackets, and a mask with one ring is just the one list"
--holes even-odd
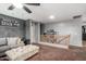
[(61, 43), (67, 44), (70, 43), (70, 35), (58, 36), (58, 35), (41, 35), (41, 41), (49, 43)]

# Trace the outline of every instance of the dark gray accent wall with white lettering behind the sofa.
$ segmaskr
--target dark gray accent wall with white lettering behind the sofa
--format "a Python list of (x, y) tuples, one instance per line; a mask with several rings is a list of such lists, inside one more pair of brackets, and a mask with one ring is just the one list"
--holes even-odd
[(14, 18), (11, 16), (0, 14), (0, 18), (4, 18), (7, 21), (17, 21), (20, 23), (19, 27), (13, 26), (1, 26), (0, 25), (0, 37), (24, 37), (25, 36), (25, 21)]

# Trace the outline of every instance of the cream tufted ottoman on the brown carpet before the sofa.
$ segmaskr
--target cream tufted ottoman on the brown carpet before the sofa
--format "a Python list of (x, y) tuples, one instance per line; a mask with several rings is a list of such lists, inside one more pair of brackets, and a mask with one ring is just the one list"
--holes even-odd
[(11, 61), (23, 61), (38, 53), (39, 47), (27, 44), (5, 52)]

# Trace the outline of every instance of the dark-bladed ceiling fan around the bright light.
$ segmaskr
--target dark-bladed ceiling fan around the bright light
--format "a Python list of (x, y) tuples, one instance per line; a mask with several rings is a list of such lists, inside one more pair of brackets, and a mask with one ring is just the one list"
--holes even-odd
[[(36, 7), (39, 7), (40, 3), (23, 3), (23, 9), (27, 12), (27, 13), (33, 13), (26, 5), (36, 5)], [(15, 7), (13, 4), (11, 4), (8, 10), (13, 10), (15, 9)]]

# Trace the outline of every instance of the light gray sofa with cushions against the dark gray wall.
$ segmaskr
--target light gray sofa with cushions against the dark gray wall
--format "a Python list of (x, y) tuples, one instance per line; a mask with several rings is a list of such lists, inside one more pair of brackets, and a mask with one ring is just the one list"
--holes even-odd
[(7, 50), (24, 46), (19, 37), (0, 38), (0, 56), (4, 55)]

